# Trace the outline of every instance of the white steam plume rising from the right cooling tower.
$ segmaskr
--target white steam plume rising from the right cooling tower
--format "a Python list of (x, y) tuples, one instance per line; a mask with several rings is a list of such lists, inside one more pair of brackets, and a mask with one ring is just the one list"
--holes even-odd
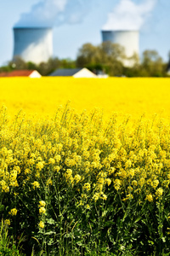
[(156, 0), (145, 0), (144, 3), (133, 3), (131, 0), (121, 0), (108, 15), (103, 30), (139, 30), (145, 19), (150, 15)]

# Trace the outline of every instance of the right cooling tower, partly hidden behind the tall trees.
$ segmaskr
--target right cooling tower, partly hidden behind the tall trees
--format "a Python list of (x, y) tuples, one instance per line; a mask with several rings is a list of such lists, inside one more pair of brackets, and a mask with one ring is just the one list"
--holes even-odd
[(110, 41), (113, 44), (120, 44), (125, 50), (127, 59), (122, 62), (126, 67), (132, 67), (134, 64), (133, 55), (139, 57), (139, 31), (133, 30), (112, 30), (102, 31), (103, 42)]

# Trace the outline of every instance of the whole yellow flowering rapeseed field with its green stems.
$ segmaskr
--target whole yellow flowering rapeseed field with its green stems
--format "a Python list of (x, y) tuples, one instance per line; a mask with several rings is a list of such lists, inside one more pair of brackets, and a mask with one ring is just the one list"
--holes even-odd
[(169, 79), (0, 79), (0, 253), (170, 255), (169, 99)]

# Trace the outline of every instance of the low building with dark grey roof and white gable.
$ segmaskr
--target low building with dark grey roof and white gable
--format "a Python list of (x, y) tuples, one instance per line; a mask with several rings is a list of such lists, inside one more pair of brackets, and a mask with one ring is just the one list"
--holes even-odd
[(51, 77), (73, 77), (73, 78), (97, 78), (88, 68), (62, 68), (51, 73)]

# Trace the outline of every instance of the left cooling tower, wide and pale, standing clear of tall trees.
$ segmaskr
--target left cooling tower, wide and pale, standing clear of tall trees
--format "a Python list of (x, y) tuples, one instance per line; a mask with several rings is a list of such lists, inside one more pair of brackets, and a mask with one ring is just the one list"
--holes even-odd
[(14, 56), (39, 64), (53, 55), (51, 27), (14, 27)]

